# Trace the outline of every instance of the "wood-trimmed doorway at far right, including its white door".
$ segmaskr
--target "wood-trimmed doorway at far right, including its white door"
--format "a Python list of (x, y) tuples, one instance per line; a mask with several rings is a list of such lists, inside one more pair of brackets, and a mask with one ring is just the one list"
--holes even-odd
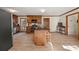
[[(66, 33), (67, 35), (79, 36), (79, 13), (73, 13), (66, 16)], [(78, 38), (79, 39), (79, 38)]]

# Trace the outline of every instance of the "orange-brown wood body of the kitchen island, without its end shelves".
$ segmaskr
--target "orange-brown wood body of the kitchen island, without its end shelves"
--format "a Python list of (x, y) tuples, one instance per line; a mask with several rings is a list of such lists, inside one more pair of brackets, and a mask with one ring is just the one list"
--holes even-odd
[(46, 38), (46, 32), (45, 30), (35, 30), (34, 32), (34, 42), (36, 43), (37, 46), (43, 46), (47, 43), (47, 38)]

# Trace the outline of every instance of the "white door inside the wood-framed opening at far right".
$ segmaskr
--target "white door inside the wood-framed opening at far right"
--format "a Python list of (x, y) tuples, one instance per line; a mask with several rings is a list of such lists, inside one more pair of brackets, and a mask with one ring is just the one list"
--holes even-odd
[(68, 35), (77, 35), (78, 23), (77, 15), (72, 15), (68, 17)]

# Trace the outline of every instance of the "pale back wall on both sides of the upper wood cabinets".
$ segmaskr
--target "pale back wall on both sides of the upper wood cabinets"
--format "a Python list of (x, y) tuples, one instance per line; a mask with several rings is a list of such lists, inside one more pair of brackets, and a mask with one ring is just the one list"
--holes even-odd
[[(20, 18), (27, 18), (26, 17), (18, 17), (18, 24), (20, 24)], [(50, 18), (50, 32), (55, 32), (56, 31), (56, 27), (57, 27), (57, 23), (59, 22), (59, 17), (51, 17), (51, 16), (42, 16), (41, 19), (41, 27), (44, 27), (44, 23), (43, 23), (43, 18)]]

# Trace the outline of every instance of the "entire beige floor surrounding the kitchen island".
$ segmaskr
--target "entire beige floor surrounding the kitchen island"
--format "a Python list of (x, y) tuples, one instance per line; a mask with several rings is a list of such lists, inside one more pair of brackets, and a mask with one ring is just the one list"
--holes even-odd
[(67, 51), (63, 45), (79, 46), (79, 40), (75, 37), (70, 37), (60, 33), (51, 33), (51, 43), (45, 46), (35, 46), (33, 41), (33, 34), (18, 33), (13, 37), (13, 47), (9, 51)]

